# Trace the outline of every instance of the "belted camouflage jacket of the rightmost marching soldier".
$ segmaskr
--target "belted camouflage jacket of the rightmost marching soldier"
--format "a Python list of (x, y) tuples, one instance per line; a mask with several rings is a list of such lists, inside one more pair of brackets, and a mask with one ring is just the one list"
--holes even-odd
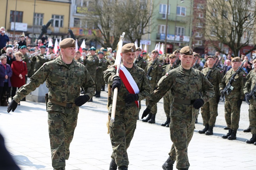
[[(182, 66), (168, 71), (158, 82), (158, 88), (151, 94), (147, 108), (152, 107), (167, 93), (171, 92), (174, 99), (196, 100), (201, 98), (204, 103), (214, 96), (213, 85), (201, 71), (191, 68), (190, 74)], [(199, 93), (202, 92), (202, 97)], [(195, 120), (199, 110), (193, 104), (172, 102), (170, 116)]]

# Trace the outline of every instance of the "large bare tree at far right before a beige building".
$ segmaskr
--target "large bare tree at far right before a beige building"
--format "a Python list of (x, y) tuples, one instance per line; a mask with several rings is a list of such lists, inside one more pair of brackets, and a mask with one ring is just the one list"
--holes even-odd
[(256, 49), (254, 26), (256, 10), (254, 0), (208, 0), (206, 7), (205, 37), (221, 51), (219, 43), (227, 45), (238, 56), (245, 46)]

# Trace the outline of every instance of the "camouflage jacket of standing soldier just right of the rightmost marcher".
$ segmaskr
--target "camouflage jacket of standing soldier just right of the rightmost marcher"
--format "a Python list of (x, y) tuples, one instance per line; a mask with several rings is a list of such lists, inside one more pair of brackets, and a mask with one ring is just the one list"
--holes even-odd
[[(209, 67), (202, 69), (202, 73), (205, 77), (207, 76), (209, 70), (211, 70), (211, 68)], [(222, 78), (223, 78), (222, 71), (215, 68), (214, 71), (211, 73), (210, 78), (208, 79), (213, 85), (213, 89), (216, 96), (221, 95), (221, 93), (219, 92), (219, 83), (221, 83)]]

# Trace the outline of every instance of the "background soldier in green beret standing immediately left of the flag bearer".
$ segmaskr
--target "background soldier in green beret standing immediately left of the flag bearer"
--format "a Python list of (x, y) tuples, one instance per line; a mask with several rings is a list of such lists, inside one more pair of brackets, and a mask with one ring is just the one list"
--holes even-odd
[(98, 52), (98, 56), (99, 56), (99, 64), (96, 67), (97, 71), (96, 71), (96, 94), (95, 97), (100, 97), (100, 91), (101, 91), (101, 86), (103, 83), (105, 83), (104, 79), (103, 79), (103, 71), (106, 70), (107, 66), (107, 61), (104, 58), (104, 53), (103, 52)]

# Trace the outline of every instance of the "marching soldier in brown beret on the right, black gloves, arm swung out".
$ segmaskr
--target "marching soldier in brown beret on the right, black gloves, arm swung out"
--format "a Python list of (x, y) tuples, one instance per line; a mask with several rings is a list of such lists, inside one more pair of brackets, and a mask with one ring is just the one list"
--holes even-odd
[[(158, 82), (158, 88), (151, 94), (142, 116), (150, 113), (153, 106), (170, 91), (171, 103), (170, 137), (173, 142), (165, 170), (189, 168), (187, 148), (193, 136), (199, 108), (214, 96), (213, 85), (205, 79), (201, 71), (191, 68), (193, 50), (186, 46), (180, 51), (181, 66), (168, 71)], [(202, 92), (200, 97), (199, 92)]]

